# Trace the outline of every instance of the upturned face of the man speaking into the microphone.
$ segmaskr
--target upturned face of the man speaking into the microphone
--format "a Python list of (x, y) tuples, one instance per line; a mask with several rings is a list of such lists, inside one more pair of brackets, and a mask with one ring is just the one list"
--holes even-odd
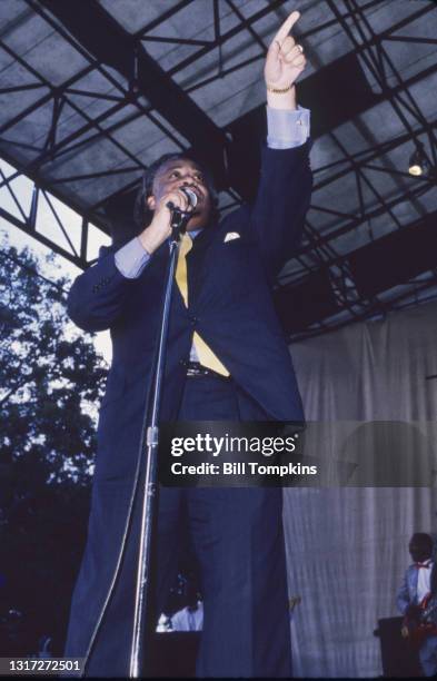
[(181, 187), (190, 187), (198, 198), (187, 231), (205, 227), (211, 211), (211, 197), (202, 171), (189, 159), (181, 158), (162, 164), (153, 180), (153, 194), (147, 200), (149, 208), (155, 210), (162, 197)]

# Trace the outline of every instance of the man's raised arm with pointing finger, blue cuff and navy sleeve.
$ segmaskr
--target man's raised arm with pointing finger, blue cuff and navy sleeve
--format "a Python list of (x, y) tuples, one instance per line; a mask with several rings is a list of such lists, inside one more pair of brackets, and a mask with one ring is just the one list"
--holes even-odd
[[(312, 188), (311, 142), (306, 140), (309, 112), (298, 110), (296, 103), (296, 79), (305, 69), (306, 58), (301, 46), (289, 34), (299, 16), (297, 11), (291, 12), (279, 28), (269, 47), (264, 71), (268, 147), (262, 149), (251, 230), (271, 276), (296, 253)], [(278, 132), (278, 124), (282, 131)]]

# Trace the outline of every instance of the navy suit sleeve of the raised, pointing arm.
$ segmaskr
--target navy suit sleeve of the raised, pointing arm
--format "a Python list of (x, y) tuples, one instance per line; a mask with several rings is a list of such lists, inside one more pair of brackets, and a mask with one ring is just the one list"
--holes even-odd
[(278, 274), (300, 244), (312, 189), (308, 140), (291, 149), (262, 149), (261, 175), (250, 214), (256, 239), (271, 276)]

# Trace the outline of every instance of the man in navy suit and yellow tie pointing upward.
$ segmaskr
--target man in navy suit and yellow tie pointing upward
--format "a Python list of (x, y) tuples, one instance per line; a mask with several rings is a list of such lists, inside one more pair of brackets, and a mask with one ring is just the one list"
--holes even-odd
[[(71, 318), (111, 329), (113, 361), (101, 405), (88, 543), (73, 594), (66, 653), (86, 657), (89, 675), (126, 675), (132, 634), (139, 502), (133, 494), (141, 417), (150, 385), (171, 200), (198, 197), (181, 243), (171, 302), (161, 420), (301, 421), (300, 396), (270, 286), (292, 256), (311, 189), (309, 112), (296, 107), (305, 68), (287, 19), (265, 66), (268, 147), (255, 205), (221, 221), (198, 164), (161, 159), (146, 176), (151, 221), (109, 248), (75, 282)], [(289, 677), (291, 657), (281, 490), (161, 487), (157, 602), (175, 575), (179, 522), (188, 520), (200, 565), (202, 677)]]

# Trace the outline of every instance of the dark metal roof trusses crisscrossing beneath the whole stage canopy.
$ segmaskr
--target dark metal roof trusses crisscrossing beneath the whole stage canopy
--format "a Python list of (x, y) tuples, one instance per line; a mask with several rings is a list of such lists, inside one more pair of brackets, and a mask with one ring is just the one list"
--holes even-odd
[[(242, 200), (236, 187), (229, 185), (227, 180), (224, 159), (229, 141), (225, 131), (217, 127), (195, 105), (190, 95), (229, 73), (245, 69), (250, 63), (262, 59), (266, 55), (267, 46), (264, 37), (256, 31), (255, 26), (268, 14), (280, 10), (285, 0), (271, 0), (250, 17), (245, 17), (235, 1), (220, 0), (220, 3), (225, 3), (236, 19), (236, 24), (227, 31), (222, 30), (220, 22), (219, 0), (212, 0), (213, 38), (210, 40), (168, 38), (163, 34), (157, 34), (157, 31), (165, 26), (166, 21), (175, 18), (178, 12), (188, 8), (192, 0), (177, 2), (171, 9), (163, 11), (157, 19), (141, 27), (133, 34), (128, 33), (121, 26), (115, 26), (113, 19), (95, 0), (87, 0), (87, 3), (81, 3), (81, 17), (88, 16), (95, 26), (99, 26), (99, 34), (103, 34), (105, 31), (111, 31), (111, 34), (117, 36), (117, 45), (119, 46), (117, 50), (118, 56), (111, 56), (108, 61), (108, 57), (101, 52), (98, 38), (96, 37), (96, 45), (89, 45), (87, 37), (81, 34), (80, 17), (78, 17), (78, 21), (75, 23), (71, 17), (62, 14), (61, 7), (66, 7), (68, 3), (59, 3), (57, 0), (26, 0), (29, 11), (37, 13), (47, 21), (86, 60), (86, 66), (78, 73), (58, 86), (53, 86), (53, 83), (43, 78), (24, 57), (20, 57), (7, 45), (6, 40), (0, 38), (0, 48), (16, 60), (29, 76), (27, 82), (1, 88), (0, 95), (26, 92), (29, 90), (41, 91), (41, 96), (37, 101), (0, 127), (0, 141), (8, 141), (8, 132), (14, 125), (42, 107), (51, 106), (51, 124), (46, 139), (38, 149), (32, 148), (36, 157), (31, 161), (20, 165), (16, 174), (8, 177), (4, 175), (0, 176), (0, 188), (8, 188), (20, 217), (8, 213), (1, 207), (0, 216), (79, 267), (85, 268), (90, 264), (87, 257), (89, 224), (92, 223), (103, 231), (108, 231), (108, 220), (101, 210), (102, 207), (107, 203), (117, 199), (117, 197), (133, 190), (138, 186), (142, 171), (146, 169), (146, 165), (141, 159), (117, 137), (117, 132), (123, 126), (133, 122), (136, 119), (147, 117), (153, 126), (158, 127), (182, 151), (199, 145), (199, 141), (200, 146), (202, 144), (206, 145), (206, 141), (208, 141), (207, 146), (210, 149), (211, 162), (218, 178), (219, 189), (226, 191), (231, 198), (231, 204), (228, 204), (227, 207), (230, 207), (232, 204), (237, 206)], [(423, 71), (408, 79), (403, 79), (386, 49), (388, 42), (396, 41), (437, 46), (437, 39), (418, 38), (407, 34), (409, 23), (425, 17), (430, 11), (435, 11), (436, 7), (433, 2), (417, 3), (417, 10), (413, 11), (407, 18), (397, 21), (380, 33), (376, 33), (368, 21), (367, 12), (377, 8), (380, 4), (380, 0), (369, 0), (362, 4), (357, 0), (342, 0), (342, 2), (344, 4), (337, 0), (326, 0), (330, 16), (322, 23), (302, 32), (299, 36), (299, 41), (305, 46), (306, 40), (321, 34), (322, 31), (335, 26), (341, 27), (350, 40), (352, 52), (362, 60), (362, 63), (380, 89), (378, 101), (389, 103), (393, 116), (400, 121), (404, 132), (396, 139), (369, 145), (367, 149), (359, 152), (348, 150), (335, 129), (329, 132), (329, 138), (340, 151), (341, 158), (325, 167), (317, 168), (315, 171), (314, 201), (306, 223), (306, 239), (297, 255), (296, 264), (298, 266), (294, 268), (292, 274), (282, 276), (279, 285), (298, 285), (310, 274), (325, 269), (329, 273), (334, 297), (338, 305), (338, 314), (334, 315), (332, 318), (320, 319), (302, 333), (294, 334), (292, 339), (325, 333), (354, 320), (386, 314), (399, 305), (407, 304), (406, 302), (411, 296), (414, 298), (415, 295), (419, 296), (421, 292), (431, 292), (433, 287), (436, 286), (436, 273), (433, 272), (429, 275), (429, 280), (426, 283), (410, 283), (410, 286), (407, 287), (404, 294), (393, 297), (393, 299), (387, 299), (385, 296), (376, 296), (371, 300), (362, 299), (355, 287), (348, 256), (339, 254), (335, 246), (339, 237), (354, 230), (368, 229), (369, 221), (383, 215), (387, 216), (387, 220), (396, 229), (401, 229), (403, 225), (396, 215), (396, 207), (406, 200), (415, 206), (417, 199), (435, 189), (435, 179), (428, 177), (411, 179), (407, 172), (388, 165), (385, 157), (407, 141), (417, 142), (426, 136), (427, 148), (429, 149), (428, 160), (431, 166), (437, 166), (435, 132), (437, 120), (429, 121), (426, 119), (419, 103), (410, 92), (413, 86), (437, 72), (437, 63), (423, 69)], [(78, 6), (75, 4), (75, 7)], [(406, 34), (400, 36), (400, 30), (404, 30)], [(250, 37), (251, 41), (258, 46), (259, 51), (254, 57), (241, 59), (238, 63), (228, 67), (224, 59), (222, 48), (228, 41), (242, 32)], [(165, 71), (145, 50), (145, 46), (151, 42), (190, 46), (193, 48), (193, 51)], [(175, 77), (212, 51), (217, 53), (217, 70), (213, 75), (209, 75), (206, 78), (199, 77), (196, 82), (186, 89), (176, 83)], [(112, 68), (108, 67), (109, 62)], [(115, 77), (112, 69), (116, 69), (121, 75), (121, 79)], [(111, 93), (91, 92), (83, 89), (81, 85), (82, 79), (93, 71), (107, 80), (108, 85), (112, 88)], [(90, 102), (100, 99), (106, 101), (108, 106), (106, 110), (92, 117), (87, 112), (86, 107), (79, 107), (75, 101), (75, 97), (78, 95)], [(175, 107), (176, 102), (177, 109)], [(78, 116), (80, 124), (69, 135), (61, 137), (59, 135), (59, 124), (66, 107)], [(178, 111), (178, 116), (175, 115), (175, 110)], [(123, 112), (125, 116), (120, 116)], [(116, 115), (119, 115), (118, 120), (108, 125), (108, 121), (113, 119)], [(410, 122), (411, 119), (414, 124)], [(50, 180), (46, 179), (46, 170), (50, 168), (51, 164), (62, 160), (67, 155), (79, 152), (86, 146), (98, 140), (106, 140), (113, 145), (123, 155), (127, 165), (122, 168), (108, 171), (82, 175), (66, 174), (62, 177), (56, 177)], [(2, 156), (4, 160), (17, 167), (16, 159), (4, 154)], [(326, 175), (327, 170), (329, 170), (328, 176)], [(406, 188), (403, 182), (390, 196), (385, 196), (373, 179), (375, 172), (381, 176), (386, 174), (395, 179), (399, 178), (399, 181), (408, 178), (409, 184)], [(12, 188), (13, 180), (20, 175), (29, 177), (34, 182), (33, 198), (29, 213), (20, 204)], [(119, 188), (112, 194), (107, 195), (103, 199), (96, 201), (92, 206), (88, 206), (87, 209), (83, 209), (83, 206), (75, 198), (71, 198), (71, 196), (66, 198), (64, 188), (68, 187), (69, 182), (105, 177), (110, 178), (112, 176), (123, 178)], [(346, 176), (355, 178), (357, 209), (348, 213), (330, 206), (324, 206), (317, 199), (318, 190), (334, 185)], [(371, 208), (365, 205), (365, 190), (374, 199)], [(62, 200), (82, 216), (79, 248), (72, 244), (68, 234), (68, 226), (62, 224), (53, 207), (54, 219), (59, 226), (60, 235), (62, 235), (67, 245), (60, 244), (57, 239), (44, 237), (37, 230), (38, 199), (40, 196), (44, 196), (50, 205), (48, 193)], [(315, 226), (317, 214), (332, 217), (337, 225), (326, 229), (317, 228)]]

